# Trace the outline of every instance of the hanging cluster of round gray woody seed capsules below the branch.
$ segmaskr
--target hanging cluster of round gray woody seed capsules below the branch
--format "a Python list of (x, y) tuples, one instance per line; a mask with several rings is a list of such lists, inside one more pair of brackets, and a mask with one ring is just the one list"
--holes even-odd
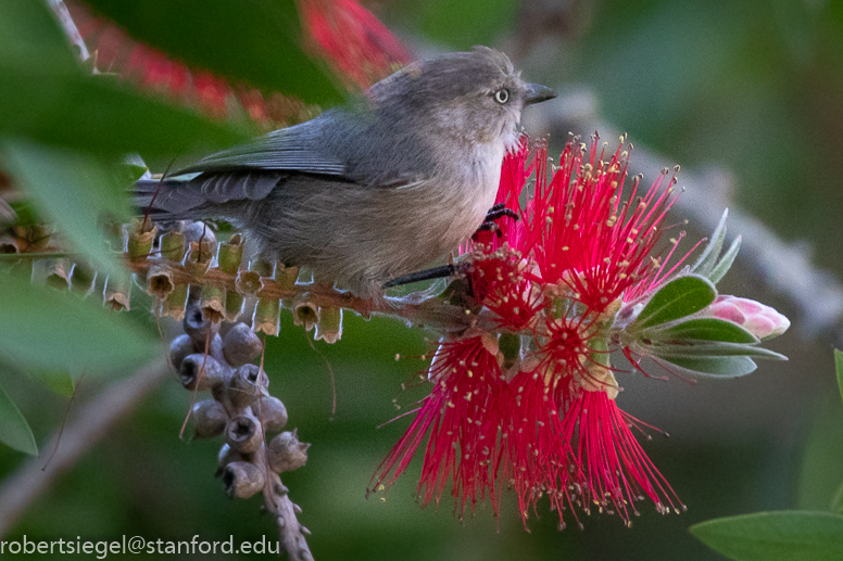
[[(196, 297), (187, 306), (185, 333), (169, 345), (169, 359), (181, 385), (211, 397), (192, 408), (194, 437), (221, 436), (217, 456), (223, 486), (229, 497), (249, 498), (263, 492), (267, 510), (276, 518), (280, 541), (291, 558), (310, 559), (299, 524), (301, 512), (278, 474), (303, 467), (310, 444), (297, 431), (284, 431), (287, 408), (269, 395), (266, 372), (254, 364), (263, 343), (243, 322), (212, 321)], [(269, 434), (275, 434), (269, 438)]]

